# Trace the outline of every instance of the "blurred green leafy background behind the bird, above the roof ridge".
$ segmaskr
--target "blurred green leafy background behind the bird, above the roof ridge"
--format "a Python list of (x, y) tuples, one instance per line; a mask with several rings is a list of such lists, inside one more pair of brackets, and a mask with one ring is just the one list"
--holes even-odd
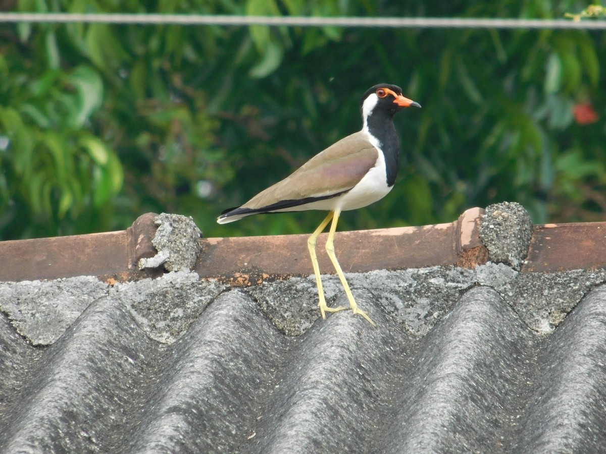
[[(1, 0), (11, 12), (564, 18), (503, 0)], [(206, 237), (311, 232), (321, 212), (216, 217), (361, 127), (380, 82), (395, 188), (339, 229), (451, 222), (519, 202), (534, 223), (604, 220), (606, 33), (585, 30), (0, 24), (0, 239), (191, 215)]]

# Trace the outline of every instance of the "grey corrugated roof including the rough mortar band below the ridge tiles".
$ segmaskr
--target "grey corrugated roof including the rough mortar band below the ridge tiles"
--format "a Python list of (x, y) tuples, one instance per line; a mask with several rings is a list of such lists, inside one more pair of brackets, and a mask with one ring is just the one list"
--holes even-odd
[(604, 268), (525, 267), (0, 283), (0, 452), (604, 452)]

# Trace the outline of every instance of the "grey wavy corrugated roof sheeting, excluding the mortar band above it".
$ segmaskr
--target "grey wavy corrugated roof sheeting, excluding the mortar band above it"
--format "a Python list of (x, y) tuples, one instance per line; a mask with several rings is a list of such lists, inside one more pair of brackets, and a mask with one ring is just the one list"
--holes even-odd
[[(217, 297), (174, 343), (124, 301), (32, 347), (2, 315), (2, 452), (599, 452), (606, 290), (551, 335), (465, 291), (425, 337), (370, 292), (287, 337), (250, 295)], [(167, 298), (169, 295), (167, 295)], [(179, 297), (177, 297), (179, 298)], [(187, 303), (187, 300), (181, 300)]]

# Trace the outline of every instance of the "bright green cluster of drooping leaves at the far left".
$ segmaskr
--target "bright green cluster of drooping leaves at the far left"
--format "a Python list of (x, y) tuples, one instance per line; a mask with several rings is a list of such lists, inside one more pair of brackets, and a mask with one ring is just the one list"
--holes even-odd
[(47, 68), (34, 80), (22, 69), (19, 77), (11, 74), (0, 82), (2, 93), (14, 100), (0, 106), (5, 150), (0, 226), (19, 229), (15, 236), (71, 232), (72, 226), (94, 229), (89, 212), (105, 208), (123, 180), (116, 153), (86, 128), (102, 104), (101, 78), (85, 65)]

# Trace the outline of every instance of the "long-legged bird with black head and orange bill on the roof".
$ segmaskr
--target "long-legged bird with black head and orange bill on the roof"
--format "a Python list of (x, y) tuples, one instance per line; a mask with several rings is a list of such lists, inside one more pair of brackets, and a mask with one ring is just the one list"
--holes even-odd
[(318, 307), (326, 312), (345, 308), (329, 307), (322, 288), (316, 255), (318, 236), (330, 223), (325, 249), (341, 280), (351, 311), (373, 326), (376, 323), (356, 304), (335, 254), (335, 232), (342, 211), (362, 208), (383, 197), (393, 188), (398, 173), (399, 140), (393, 116), (405, 107), (421, 105), (404, 97), (397, 85), (378, 84), (362, 95), (359, 108), (362, 129), (339, 140), (313, 156), (290, 176), (275, 183), (244, 205), (226, 209), (217, 222), (233, 222), (253, 214), (321, 210), (327, 216), (307, 240), (311, 265), (318, 286)]

